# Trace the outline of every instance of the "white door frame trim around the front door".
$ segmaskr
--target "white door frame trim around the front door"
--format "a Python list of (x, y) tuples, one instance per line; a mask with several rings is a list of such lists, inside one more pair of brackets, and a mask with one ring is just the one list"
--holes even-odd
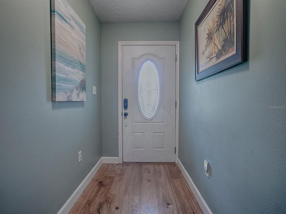
[[(176, 126), (175, 126), (175, 163), (179, 149), (179, 41), (119, 41), (118, 42), (118, 157), (123, 162), (123, 129), (122, 129), (122, 46), (125, 45), (175, 45), (176, 46)], [(175, 58), (175, 56), (174, 56)]]

